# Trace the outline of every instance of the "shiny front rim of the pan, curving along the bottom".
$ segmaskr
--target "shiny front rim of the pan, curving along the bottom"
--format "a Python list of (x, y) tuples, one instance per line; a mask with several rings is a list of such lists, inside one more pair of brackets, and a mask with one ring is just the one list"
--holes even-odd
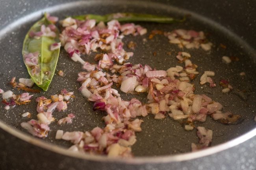
[(170, 162), (179, 162), (179, 161), (187, 161), (187, 160), (197, 159), (197, 158), (208, 156), (211, 154), (216, 154), (218, 152), (221, 152), (221, 151), (227, 150), (229, 148), (232, 148), (234, 146), (237, 146), (256, 135), (256, 128), (254, 128), (253, 130), (245, 133), (244, 135), (241, 135), (241, 136), (239, 136), (235, 139), (232, 139), (226, 143), (212, 146), (210, 148), (200, 150), (197, 152), (170, 155), (170, 156), (135, 157), (132, 159), (122, 159), (122, 158), (109, 158), (109, 157), (102, 156), (102, 155), (90, 155), (90, 154), (82, 154), (79, 152), (72, 152), (72, 151), (69, 151), (69, 150), (61, 147), (61, 146), (46, 143), (46, 142), (42, 141), (41, 139), (32, 137), (24, 132), (21, 132), (20, 130), (17, 130), (15, 128), (8, 126), (7, 124), (5, 124), (2, 121), (0, 121), (0, 128), (5, 130), (6, 132), (10, 133), (11, 135), (18, 137), (19, 139), (22, 139), (23, 141), (31, 143), (35, 146), (39, 146), (46, 150), (56, 152), (58, 154), (76, 157), (79, 159), (91, 160), (91, 161), (116, 162), (116, 163), (127, 163), (127, 164), (170, 163)]

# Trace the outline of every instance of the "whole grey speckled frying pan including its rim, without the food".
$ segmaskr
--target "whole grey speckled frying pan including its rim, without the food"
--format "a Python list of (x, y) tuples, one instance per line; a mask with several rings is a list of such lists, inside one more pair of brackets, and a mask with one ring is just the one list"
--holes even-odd
[[(69, 152), (67, 141), (55, 140), (56, 130), (85, 131), (95, 126), (103, 127), (101, 121), (104, 113), (93, 112), (92, 104), (78, 93), (79, 84), (76, 76), (80, 64), (72, 62), (62, 49), (56, 70), (63, 70), (65, 77), (54, 76), (47, 92), (35, 94), (33, 98), (44, 95), (49, 97), (61, 89), (74, 91), (76, 99), (72, 101), (65, 113), (55, 113), (56, 119), (65, 117), (67, 113), (76, 115), (72, 124), (58, 126), (50, 125), (51, 131), (46, 139), (37, 139), (20, 128), (24, 112), (31, 112), (36, 117), (36, 103), (17, 106), (9, 111), (0, 106), (0, 169), (8, 170), (43, 170), (43, 169), (101, 169), (101, 170), (254, 170), (256, 168), (256, 3), (254, 0), (241, 1), (118, 1), (118, 0), (45, 0), (45, 1), (15, 1), (0, 0), (0, 88), (13, 90), (8, 84), (11, 77), (29, 78), (22, 61), (22, 41), (30, 26), (41, 18), (43, 12), (64, 18), (67, 15), (81, 15), (85, 13), (113, 13), (120, 11), (151, 13), (180, 17), (189, 14), (184, 23), (152, 24), (138, 23), (148, 29), (172, 31), (173, 29), (195, 29), (204, 31), (214, 47), (210, 53), (198, 50), (183, 49), (191, 53), (192, 62), (197, 64), (202, 73), (205, 70), (215, 71), (215, 82), (221, 79), (230, 81), (234, 90), (232, 93), (221, 93), (222, 88), (217, 85), (210, 89), (208, 86), (197, 89), (195, 93), (206, 93), (214, 101), (224, 106), (224, 111), (230, 111), (242, 116), (243, 121), (237, 125), (223, 125), (209, 117), (204, 123), (213, 130), (212, 147), (199, 152), (190, 153), (190, 144), (197, 143), (196, 130), (185, 131), (181, 125), (170, 119), (155, 120), (151, 115), (143, 118), (142, 132), (136, 134), (137, 142), (132, 147), (134, 159), (111, 159), (99, 155), (77, 154)], [(168, 69), (176, 66), (176, 53), (181, 51), (169, 44), (167, 38), (156, 36), (143, 43), (142, 37), (127, 37), (124, 42), (133, 40), (137, 43), (132, 63), (149, 64), (156, 69)], [(223, 49), (220, 44), (227, 48)], [(152, 53), (156, 52), (156, 56)], [(171, 55), (167, 55), (171, 52)], [(238, 62), (224, 64), (223, 55), (235, 56)], [(85, 60), (93, 61), (93, 55), (85, 56)], [(239, 73), (244, 71), (246, 76)], [(194, 83), (198, 84), (200, 76)], [(122, 94), (124, 99), (136, 97), (145, 102), (145, 96)]]

